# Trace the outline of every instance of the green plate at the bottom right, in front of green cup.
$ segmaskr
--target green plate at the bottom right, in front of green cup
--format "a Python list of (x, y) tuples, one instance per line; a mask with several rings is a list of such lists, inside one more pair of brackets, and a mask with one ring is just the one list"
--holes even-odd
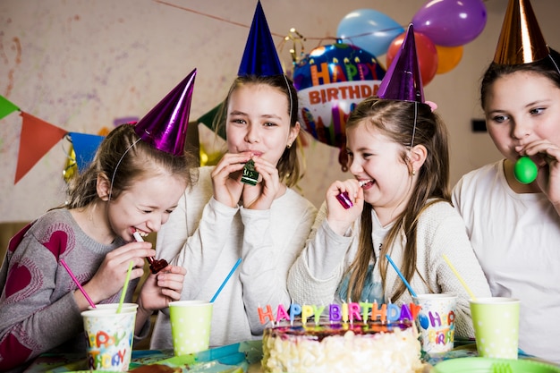
[[(509, 365), (511, 370), (505, 366)], [(502, 367), (500, 370), (499, 367)], [(560, 367), (535, 360), (459, 358), (438, 362), (431, 373), (560, 373)]]

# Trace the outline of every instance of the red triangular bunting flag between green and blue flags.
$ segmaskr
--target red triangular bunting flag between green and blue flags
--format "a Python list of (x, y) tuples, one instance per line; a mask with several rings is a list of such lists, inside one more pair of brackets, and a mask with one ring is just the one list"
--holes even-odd
[(68, 131), (21, 112), (21, 138), (14, 184), (19, 182)]

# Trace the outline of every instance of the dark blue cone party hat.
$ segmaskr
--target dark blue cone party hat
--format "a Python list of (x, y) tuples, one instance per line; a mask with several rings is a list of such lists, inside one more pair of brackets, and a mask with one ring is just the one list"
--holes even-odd
[(282, 74), (284, 74), (284, 70), (276, 53), (274, 40), (270, 35), (270, 30), (268, 30), (267, 19), (259, 1), (250, 25), (249, 38), (247, 38), (247, 44), (245, 44), (242, 64), (239, 66), (237, 75), (271, 76)]

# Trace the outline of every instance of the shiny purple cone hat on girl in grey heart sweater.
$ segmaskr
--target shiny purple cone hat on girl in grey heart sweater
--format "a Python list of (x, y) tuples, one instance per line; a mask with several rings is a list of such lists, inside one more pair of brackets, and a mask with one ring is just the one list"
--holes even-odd
[(140, 139), (174, 156), (183, 154), (196, 73), (194, 69), (136, 123), (134, 131)]

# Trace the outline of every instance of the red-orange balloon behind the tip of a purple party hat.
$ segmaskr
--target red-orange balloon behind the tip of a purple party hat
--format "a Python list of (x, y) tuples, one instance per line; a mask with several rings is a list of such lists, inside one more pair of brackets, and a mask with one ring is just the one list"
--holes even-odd
[[(403, 45), (406, 32), (393, 39), (391, 45), (387, 49), (386, 64), (390, 66), (395, 55)], [(418, 55), (418, 65), (420, 68), (420, 76), (422, 77), (422, 85), (427, 85), (437, 72), (437, 49), (434, 42), (426, 35), (414, 31), (414, 41), (416, 45), (416, 55)]]

